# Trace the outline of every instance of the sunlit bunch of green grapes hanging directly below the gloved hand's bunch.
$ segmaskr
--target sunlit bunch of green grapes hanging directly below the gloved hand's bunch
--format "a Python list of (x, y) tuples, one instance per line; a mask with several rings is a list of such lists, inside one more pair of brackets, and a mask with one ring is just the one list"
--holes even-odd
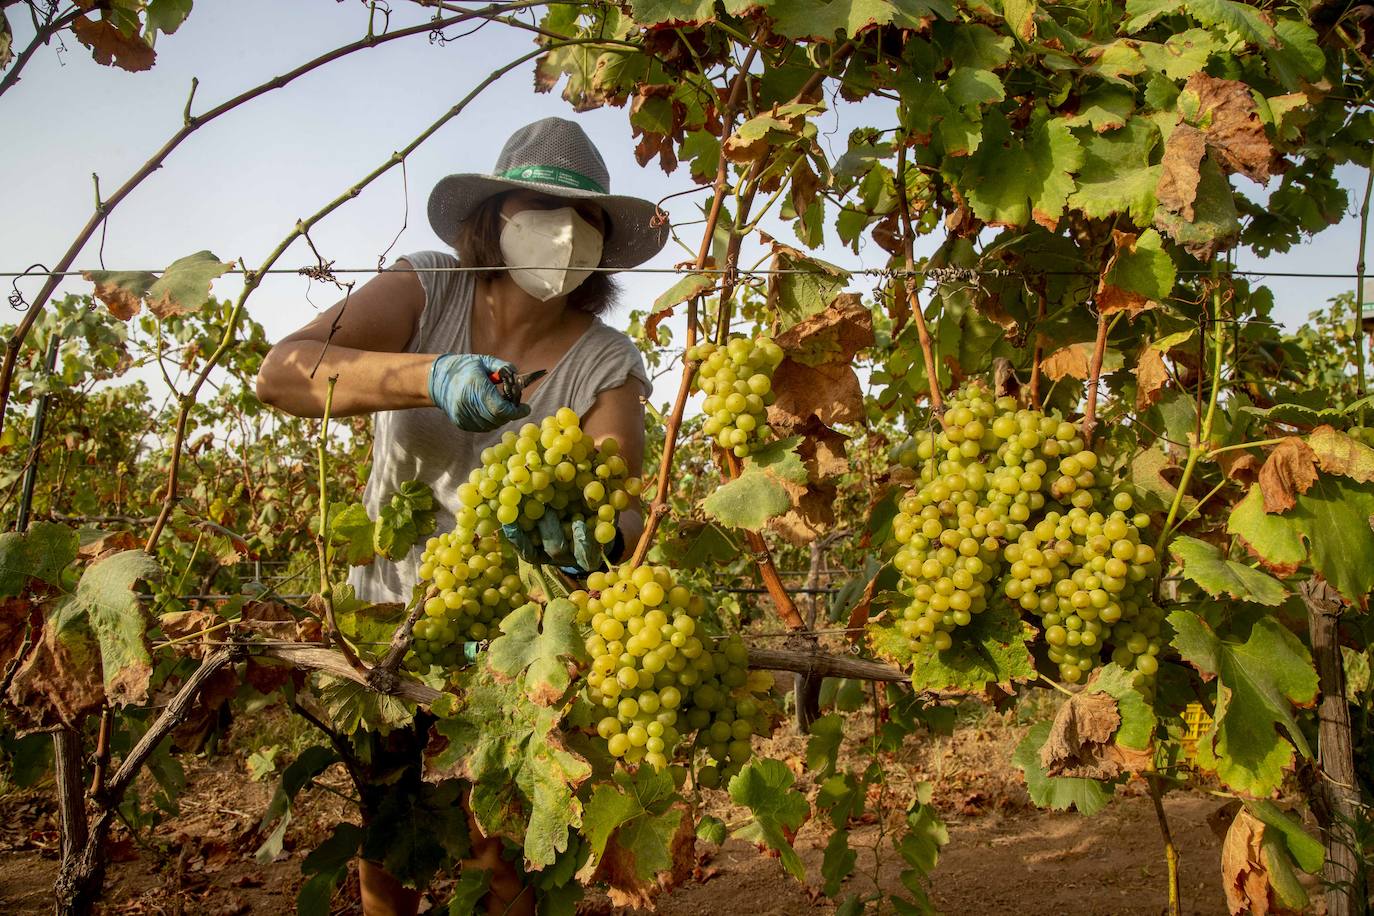
[(710, 665), (697, 634), (702, 602), (662, 566), (592, 573), (587, 588), (569, 597), (591, 630), (585, 696), (603, 710), (596, 733), (613, 757), (662, 769), (680, 739), (684, 692)]

